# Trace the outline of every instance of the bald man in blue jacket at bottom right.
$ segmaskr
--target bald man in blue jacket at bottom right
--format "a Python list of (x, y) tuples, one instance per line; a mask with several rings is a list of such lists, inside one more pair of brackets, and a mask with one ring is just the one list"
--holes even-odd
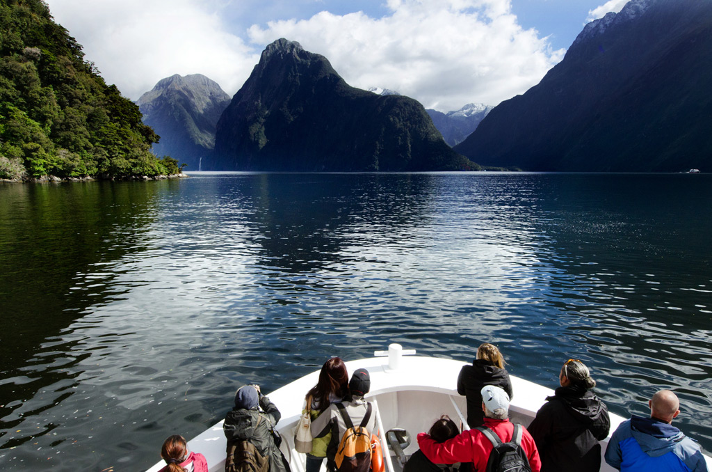
[(700, 446), (672, 426), (680, 414), (676, 394), (661, 390), (648, 401), (650, 418), (633, 415), (614, 431), (605, 459), (621, 472), (706, 472)]

